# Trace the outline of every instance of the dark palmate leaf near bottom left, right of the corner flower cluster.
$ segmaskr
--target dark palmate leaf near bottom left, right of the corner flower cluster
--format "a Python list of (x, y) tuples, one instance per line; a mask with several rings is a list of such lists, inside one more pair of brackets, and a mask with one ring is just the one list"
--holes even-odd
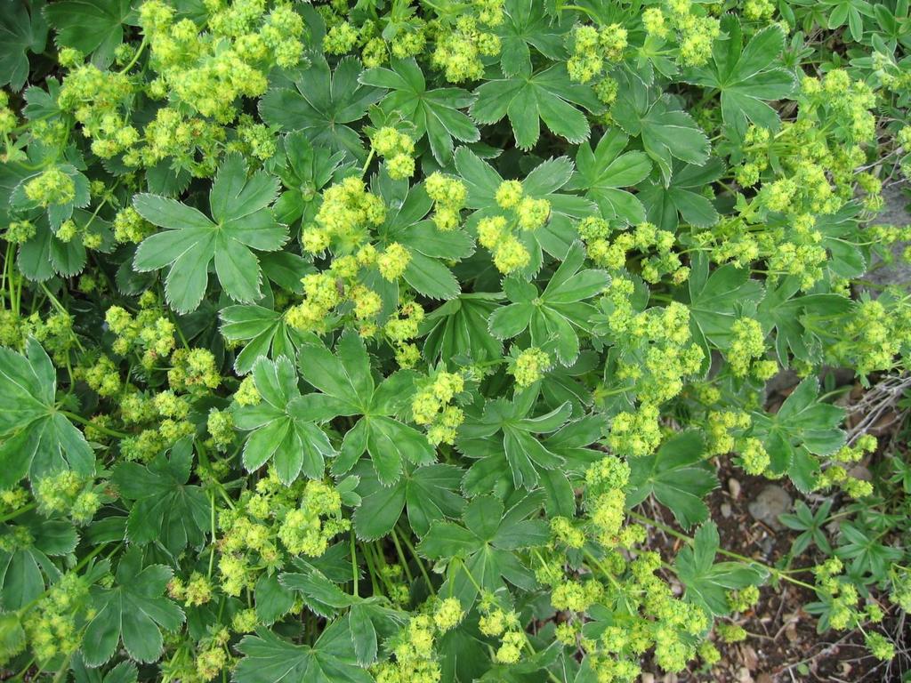
[(92, 587), (96, 613), (88, 622), (82, 656), (89, 667), (98, 667), (114, 656), (123, 642), (130, 658), (153, 662), (161, 656), (161, 629), (177, 629), (183, 611), (164, 596), (173, 572), (169, 566), (142, 566), (138, 547), (120, 559), (114, 585)]

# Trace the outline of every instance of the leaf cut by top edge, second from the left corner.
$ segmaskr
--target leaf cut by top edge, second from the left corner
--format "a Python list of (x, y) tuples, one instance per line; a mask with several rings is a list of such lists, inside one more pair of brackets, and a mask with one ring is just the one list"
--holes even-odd
[(56, 29), (58, 46), (93, 55), (98, 66), (114, 59), (123, 42), (123, 25), (133, 24), (129, 0), (62, 0), (47, 5), (47, 21)]

